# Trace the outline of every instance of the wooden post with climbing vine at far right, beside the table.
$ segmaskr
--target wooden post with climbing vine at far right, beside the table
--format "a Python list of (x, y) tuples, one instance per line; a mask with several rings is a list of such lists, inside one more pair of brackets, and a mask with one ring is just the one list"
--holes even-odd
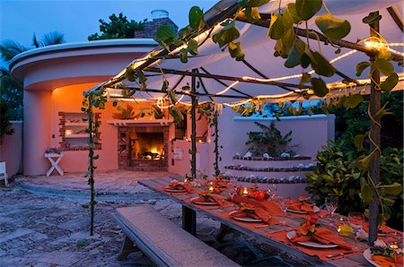
[[(379, 12), (370, 13), (370, 15), (379, 15)], [(375, 31), (379, 32), (379, 22), (373, 22), (370, 24), (370, 34), (371, 36), (377, 37)], [(375, 114), (381, 108), (381, 91), (377, 88), (377, 84), (380, 83), (380, 71), (373, 67), (373, 62), (375, 60), (375, 56), (370, 57), (371, 62), (371, 72), (372, 72), (372, 82), (371, 82), (371, 94), (370, 94), (370, 114), (371, 116), (375, 116)], [(376, 122), (371, 120), (371, 129), (370, 129), (370, 138), (373, 140), (370, 145), (370, 151), (373, 151), (380, 146), (380, 135), (381, 128), (378, 125), (380, 124), (380, 119), (377, 119)], [(374, 153), (374, 157), (370, 164), (370, 176), (373, 180), (373, 184), (377, 185), (380, 182), (380, 151), (377, 150)], [(372, 186), (373, 188), (373, 186)], [(378, 220), (377, 216), (379, 214), (379, 198), (374, 191), (373, 188), (373, 201), (369, 206), (369, 237), (368, 237), (368, 245), (373, 245), (373, 242), (377, 239), (377, 226)]]

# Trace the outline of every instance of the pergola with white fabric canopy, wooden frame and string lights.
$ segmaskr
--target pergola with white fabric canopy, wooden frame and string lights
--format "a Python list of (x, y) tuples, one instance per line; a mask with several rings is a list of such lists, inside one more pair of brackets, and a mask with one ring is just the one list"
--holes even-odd
[[(286, 2), (286, 1), (284, 1)], [(281, 7), (285, 7), (282, 2)], [(349, 95), (349, 93), (370, 94), (371, 114), (380, 107), (380, 90), (376, 90), (375, 82), (383, 81), (378, 71), (373, 72), (370, 79), (366, 72), (356, 76), (356, 63), (372, 61), (379, 47), (374, 45), (369, 36), (379, 37), (382, 34), (387, 42), (382, 43), (393, 55), (395, 72), (399, 73), (399, 83), (393, 90), (404, 89), (404, 73), (402, 73), (402, 34), (403, 24), (397, 4), (400, 1), (334, 1), (324, 2), (329, 11), (340, 18), (347, 19), (352, 25), (351, 32), (345, 39), (332, 43), (321, 34), (314, 22), (308, 23), (310, 33), (300, 27), (294, 27), (298, 38), (310, 39), (310, 45), (321, 50), (322, 55), (330, 60), (338, 70), (332, 77), (324, 78), (329, 88), (327, 99)], [(214, 102), (219, 105), (235, 107), (246, 103), (300, 101), (309, 98), (318, 99), (312, 94), (312, 87), (302, 85), (302, 69), (287, 69), (285, 59), (274, 56), (275, 40), (267, 37), (273, 1), (259, 7), (260, 20), (249, 22), (245, 13), (238, 8), (236, 0), (222, 0), (204, 14), (206, 26), (202, 30), (192, 31), (187, 38), (198, 43), (198, 55), (188, 56), (187, 63), (180, 62), (182, 44), (169, 47), (156, 47), (147, 55), (136, 59), (115, 77), (92, 88), (89, 92), (103, 90), (110, 101), (136, 101), (146, 99), (157, 101), (159, 108), (171, 107), (167, 90), (175, 94), (177, 103), (191, 107), (192, 134), (192, 177), (196, 176), (196, 109), (198, 103)], [(382, 20), (367, 25), (362, 22), (369, 13), (380, 13)], [(221, 22), (237, 15), (237, 28), (240, 29), (242, 49), (245, 54), (240, 61), (234, 60), (227, 52), (227, 47), (220, 48), (212, 39), (221, 30)], [(371, 30), (372, 28), (373, 30)], [(363, 41), (357, 41), (357, 39)], [(320, 43), (321, 47), (320, 47)], [(325, 46), (324, 46), (325, 44)], [(223, 51), (225, 50), (225, 51)], [(336, 54), (336, 51), (338, 54)], [(127, 72), (141, 71), (146, 78), (146, 86), (127, 80)], [(310, 73), (314, 73), (311, 71)], [(130, 79), (133, 81), (133, 79)], [(380, 128), (372, 124), (375, 145), (380, 143)], [(373, 158), (370, 170), (373, 181), (380, 178), (378, 154)], [(371, 204), (370, 237), (376, 236), (378, 214), (377, 200)], [(374, 240), (369, 238), (370, 240)], [(373, 243), (373, 241), (371, 241)]]

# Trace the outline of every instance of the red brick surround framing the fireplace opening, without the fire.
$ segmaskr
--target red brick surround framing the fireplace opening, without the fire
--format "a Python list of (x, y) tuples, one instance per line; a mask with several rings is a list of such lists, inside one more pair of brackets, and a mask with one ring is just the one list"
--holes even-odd
[[(168, 170), (168, 143), (169, 143), (168, 125), (130, 125), (118, 127), (118, 167), (119, 169), (128, 169), (135, 171), (167, 171)], [(136, 133), (162, 133), (164, 159), (130, 159), (130, 132)]]

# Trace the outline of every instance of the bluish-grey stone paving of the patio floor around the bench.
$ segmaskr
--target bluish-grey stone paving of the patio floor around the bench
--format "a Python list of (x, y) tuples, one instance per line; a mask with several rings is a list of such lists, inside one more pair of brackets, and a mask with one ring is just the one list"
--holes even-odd
[[(90, 211), (82, 207), (89, 195), (85, 178), (73, 174), (17, 177), (11, 187), (0, 187), (0, 266), (153, 266), (140, 252), (130, 254), (126, 261), (116, 260), (123, 235), (110, 214), (118, 207), (146, 203), (180, 226), (180, 204), (154, 198), (147, 188), (137, 185), (139, 179), (162, 176), (174, 177), (168, 173), (122, 171), (98, 174), (96, 187), (110, 199), (98, 198), (92, 237)], [(26, 190), (28, 187), (32, 193)], [(44, 189), (53, 193), (44, 194)], [(127, 192), (127, 198), (113, 200), (115, 194), (122, 194), (119, 189)], [(235, 231), (217, 242), (219, 226), (215, 220), (198, 215), (198, 237), (237, 263), (302, 266), (287, 252), (257, 244)]]

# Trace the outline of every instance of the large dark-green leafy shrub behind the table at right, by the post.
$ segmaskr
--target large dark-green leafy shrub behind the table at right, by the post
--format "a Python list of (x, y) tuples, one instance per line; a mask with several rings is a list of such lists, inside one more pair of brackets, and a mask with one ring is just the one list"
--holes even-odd
[[(317, 153), (318, 165), (312, 174), (307, 174), (306, 191), (313, 194), (320, 204), (328, 195), (338, 195), (338, 212), (347, 215), (349, 211), (364, 211), (366, 205), (361, 201), (361, 178), (367, 174), (355, 166), (358, 156), (356, 150), (347, 149), (351, 144), (344, 141), (329, 142), (328, 146), (322, 146), (324, 151)], [(386, 148), (381, 157), (381, 182), (383, 185), (391, 185), (394, 182), (402, 183), (403, 180), (403, 156), (402, 149)], [(387, 221), (393, 228), (402, 229), (403, 223), (403, 198), (402, 193), (392, 197), (394, 204), (388, 209), (391, 215)]]

